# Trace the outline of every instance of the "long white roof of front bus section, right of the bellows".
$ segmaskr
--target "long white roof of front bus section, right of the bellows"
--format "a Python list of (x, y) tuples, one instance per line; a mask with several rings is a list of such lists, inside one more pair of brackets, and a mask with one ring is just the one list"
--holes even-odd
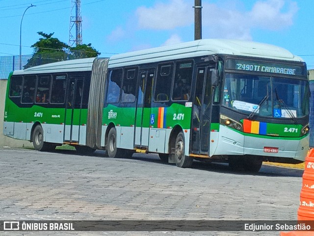
[(290, 61), (303, 61), (286, 49), (253, 41), (201, 39), (171, 46), (113, 55), (108, 67), (128, 66), (211, 54), (231, 54)]

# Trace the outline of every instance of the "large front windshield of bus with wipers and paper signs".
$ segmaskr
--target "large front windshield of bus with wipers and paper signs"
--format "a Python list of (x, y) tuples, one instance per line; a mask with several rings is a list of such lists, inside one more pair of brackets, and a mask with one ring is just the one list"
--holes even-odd
[(299, 118), (309, 114), (307, 80), (226, 74), (223, 104), (249, 116)]

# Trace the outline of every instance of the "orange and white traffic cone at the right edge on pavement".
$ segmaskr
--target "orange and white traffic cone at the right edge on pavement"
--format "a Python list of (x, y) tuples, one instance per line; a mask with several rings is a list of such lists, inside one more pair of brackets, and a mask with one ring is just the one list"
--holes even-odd
[[(314, 220), (314, 149), (308, 153), (305, 159), (298, 220)], [(280, 236), (314, 236), (314, 232), (280, 232)]]

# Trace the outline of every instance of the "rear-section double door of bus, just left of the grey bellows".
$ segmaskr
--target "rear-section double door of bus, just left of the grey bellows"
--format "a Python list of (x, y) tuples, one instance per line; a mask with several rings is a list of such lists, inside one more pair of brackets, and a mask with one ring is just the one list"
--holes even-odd
[(65, 105), (64, 142), (78, 143), (83, 79), (69, 79)]

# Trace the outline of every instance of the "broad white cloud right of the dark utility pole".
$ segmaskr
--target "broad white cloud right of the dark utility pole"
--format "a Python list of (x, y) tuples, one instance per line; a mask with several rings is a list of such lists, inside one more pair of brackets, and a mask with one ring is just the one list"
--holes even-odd
[[(284, 11), (284, 9), (288, 9)], [(203, 4), (203, 35), (210, 38), (234, 38), (252, 40), (251, 30), (263, 28), (281, 30), (293, 24), (298, 11), (295, 1), (258, 0), (252, 10), (220, 7), (219, 4)]]

